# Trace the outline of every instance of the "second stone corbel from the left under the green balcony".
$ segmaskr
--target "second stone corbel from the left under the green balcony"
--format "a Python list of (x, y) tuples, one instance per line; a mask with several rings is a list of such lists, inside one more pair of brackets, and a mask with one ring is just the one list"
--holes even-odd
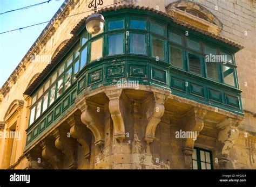
[(55, 147), (54, 143), (44, 139), (40, 142), (40, 146), (43, 149), (43, 158), (49, 162), (54, 169), (63, 169), (63, 154)]

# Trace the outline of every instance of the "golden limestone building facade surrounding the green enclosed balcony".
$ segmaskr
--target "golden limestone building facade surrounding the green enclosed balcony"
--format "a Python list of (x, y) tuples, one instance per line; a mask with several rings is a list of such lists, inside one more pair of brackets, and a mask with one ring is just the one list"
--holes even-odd
[[(88, 2), (66, 1), (56, 17), (83, 12)], [(106, 0), (104, 5), (116, 2)], [(125, 3), (168, 13), (166, 6), (174, 2)], [(24, 152), (31, 98), (23, 93), (49, 63), (31, 63), (30, 57), (54, 57), (72, 37), (70, 32), (77, 23), (90, 15), (87, 12), (52, 21), (0, 90), (0, 130), (21, 132), (21, 140), (0, 139), (0, 168), (191, 169), (191, 155), (196, 146), (212, 151), (214, 169), (255, 169), (256, 3), (250, 0), (191, 2), (200, 4), (220, 20), (221, 37), (244, 46), (235, 54), (244, 118), (222, 110), (216, 113), (214, 107), (151, 86), (140, 90), (106, 87), (78, 98), (75, 109)], [(218, 33), (218, 29), (211, 32)], [(196, 141), (177, 139), (175, 132), (179, 130), (195, 131), (199, 135)], [(70, 136), (67, 138), (66, 134)]]

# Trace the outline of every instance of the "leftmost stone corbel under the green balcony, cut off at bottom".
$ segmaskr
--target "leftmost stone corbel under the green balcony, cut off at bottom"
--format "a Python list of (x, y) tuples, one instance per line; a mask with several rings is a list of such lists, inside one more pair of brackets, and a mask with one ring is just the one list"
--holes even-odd
[(41, 153), (37, 153), (33, 150), (30, 150), (28, 153), (25, 154), (26, 159), (28, 159), (29, 164), (26, 169), (45, 169), (46, 163), (42, 158)]

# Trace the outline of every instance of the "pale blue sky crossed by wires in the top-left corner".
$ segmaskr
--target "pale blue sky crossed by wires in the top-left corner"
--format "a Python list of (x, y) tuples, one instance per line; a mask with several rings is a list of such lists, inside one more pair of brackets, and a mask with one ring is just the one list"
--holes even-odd
[[(45, 1), (48, 0), (0, 0), (0, 13)], [(63, 2), (64, 0), (51, 0), (49, 3), (33, 6), (29, 9), (4, 13), (0, 15), (0, 33), (49, 21)], [(0, 34), (0, 88), (47, 24)]]

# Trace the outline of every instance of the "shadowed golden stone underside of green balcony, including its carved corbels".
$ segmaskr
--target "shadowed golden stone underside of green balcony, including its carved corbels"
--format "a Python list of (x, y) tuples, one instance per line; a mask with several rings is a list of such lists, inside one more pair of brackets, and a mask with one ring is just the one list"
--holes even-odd
[[(194, 145), (214, 150), (219, 168), (230, 168), (228, 154), (243, 118), (150, 85), (98, 88), (80, 94), (70, 106), (56, 118), (53, 112), (49, 125), (46, 119), (29, 129), (32, 139), (24, 154), (29, 163), (38, 157), (43, 162), (28, 168), (117, 169), (122, 163), (131, 169), (165, 168), (146, 160), (156, 157), (158, 149), (174, 146), (177, 154), (172, 148), (171, 155), (164, 151), (158, 156), (175, 162), (167, 168), (190, 169)], [(175, 138), (179, 130), (197, 132), (197, 140)], [(147, 159), (137, 160), (139, 155)]]

